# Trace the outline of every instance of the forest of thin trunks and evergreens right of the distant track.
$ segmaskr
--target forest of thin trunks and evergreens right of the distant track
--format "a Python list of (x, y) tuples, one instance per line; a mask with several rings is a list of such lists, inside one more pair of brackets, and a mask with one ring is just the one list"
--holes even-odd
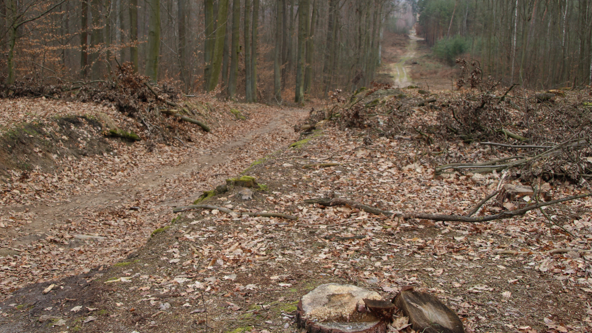
[(506, 84), (544, 89), (592, 82), (587, 0), (419, 0), (418, 34), (442, 59), (468, 53)]

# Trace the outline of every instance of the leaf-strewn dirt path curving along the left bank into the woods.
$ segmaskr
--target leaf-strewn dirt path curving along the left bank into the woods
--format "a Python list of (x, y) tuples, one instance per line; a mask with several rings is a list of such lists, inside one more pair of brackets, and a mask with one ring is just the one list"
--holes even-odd
[[(20, 228), (2, 229), (0, 251), (4, 252), (0, 255), (16, 255), (14, 265), (0, 271), (2, 293), (121, 260), (143, 245), (153, 230), (170, 222), (171, 207), (190, 204), (202, 191), (223, 184), (256, 159), (293, 142), (297, 133), (292, 126), (306, 114), (278, 110), (266, 114), (264, 123), (246, 121), (242, 126), (248, 132), (210, 149), (163, 146), (163, 155), (185, 158), (176, 165), (162, 165), (144, 163), (139, 157), (124, 181), (98, 184), (100, 193), (62, 197), (57, 203), (0, 207), (2, 214), (34, 216)], [(216, 130), (211, 135), (217, 135)], [(79, 235), (104, 238), (79, 239), (83, 238)]]

